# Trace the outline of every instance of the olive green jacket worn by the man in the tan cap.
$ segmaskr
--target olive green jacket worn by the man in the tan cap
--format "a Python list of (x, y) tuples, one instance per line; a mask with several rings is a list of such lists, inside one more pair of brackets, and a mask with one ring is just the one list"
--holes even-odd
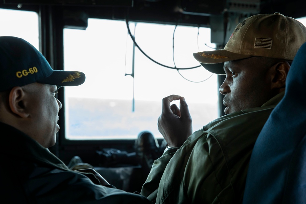
[(154, 162), (141, 194), (153, 203), (242, 203), (254, 143), (283, 95), (220, 117), (182, 147), (167, 150)]

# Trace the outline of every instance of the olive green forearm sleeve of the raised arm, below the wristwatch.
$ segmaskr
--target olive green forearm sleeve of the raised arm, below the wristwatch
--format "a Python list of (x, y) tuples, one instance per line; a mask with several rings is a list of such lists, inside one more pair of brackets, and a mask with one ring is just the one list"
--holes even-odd
[(160, 158), (154, 161), (151, 171), (147, 177), (147, 180), (141, 189), (141, 195), (147, 197), (150, 201), (155, 202), (157, 189), (162, 174), (164, 173), (168, 162), (170, 161), (170, 159), (173, 157), (174, 153), (178, 149), (179, 148), (169, 149), (166, 152), (164, 152), (164, 154)]

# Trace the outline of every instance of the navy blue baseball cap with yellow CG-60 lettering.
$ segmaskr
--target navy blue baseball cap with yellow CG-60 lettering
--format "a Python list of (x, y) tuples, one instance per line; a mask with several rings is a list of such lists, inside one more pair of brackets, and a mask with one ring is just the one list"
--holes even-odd
[(0, 91), (30, 83), (78, 86), (85, 74), (53, 70), (46, 58), (24, 39), (0, 36)]

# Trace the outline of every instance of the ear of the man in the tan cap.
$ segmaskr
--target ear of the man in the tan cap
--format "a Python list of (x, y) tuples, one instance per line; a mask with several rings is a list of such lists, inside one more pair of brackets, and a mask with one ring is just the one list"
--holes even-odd
[(288, 62), (278, 62), (273, 65), (273, 76), (272, 76), (272, 84), (271, 88), (285, 88), (286, 78), (290, 69), (290, 65)]

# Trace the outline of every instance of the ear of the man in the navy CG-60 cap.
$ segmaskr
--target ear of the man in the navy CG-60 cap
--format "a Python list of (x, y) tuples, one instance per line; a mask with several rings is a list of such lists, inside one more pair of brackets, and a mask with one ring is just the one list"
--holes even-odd
[(21, 87), (14, 87), (9, 92), (9, 107), (11, 111), (21, 118), (26, 118), (29, 113), (26, 111), (25, 107), (25, 93)]

